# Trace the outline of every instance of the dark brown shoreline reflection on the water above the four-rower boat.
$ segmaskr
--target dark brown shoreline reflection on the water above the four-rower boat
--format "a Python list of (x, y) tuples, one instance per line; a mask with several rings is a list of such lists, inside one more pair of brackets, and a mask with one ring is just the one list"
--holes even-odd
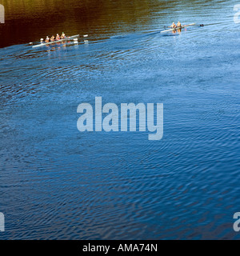
[[(119, 31), (133, 31), (151, 22), (153, 14), (166, 10), (166, 1), (2, 1), (6, 25), (1, 46), (25, 43), (66, 31), (102, 37)], [(57, 32), (58, 31), (58, 32)]]

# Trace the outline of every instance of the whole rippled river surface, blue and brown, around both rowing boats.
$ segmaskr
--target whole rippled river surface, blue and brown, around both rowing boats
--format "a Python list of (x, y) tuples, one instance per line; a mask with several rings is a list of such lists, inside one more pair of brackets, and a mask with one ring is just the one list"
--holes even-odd
[[(240, 238), (238, 1), (0, 4), (0, 238)], [(80, 133), (95, 97), (163, 103), (162, 140)]]

